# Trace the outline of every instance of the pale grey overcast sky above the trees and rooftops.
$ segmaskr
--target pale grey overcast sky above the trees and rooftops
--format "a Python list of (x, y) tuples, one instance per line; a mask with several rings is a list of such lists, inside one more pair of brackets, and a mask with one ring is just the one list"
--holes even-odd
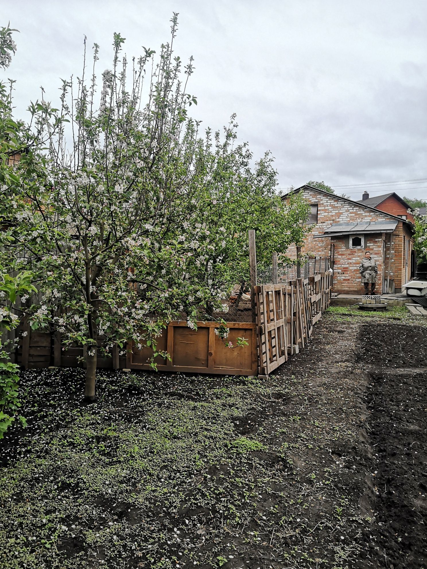
[[(0, 77), (17, 80), (17, 114), (29, 100), (58, 105), (60, 77), (80, 75), (83, 38), (112, 36), (128, 56), (169, 40), (195, 58), (192, 114), (217, 129), (237, 113), (255, 156), (271, 150), (281, 187), (422, 180), (372, 187), (427, 197), (426, 0), (0, 0), (0, 25), (18, 28), (17, 55)], [(411, 189), (406, 189), (411, 188)], [(416, 188), (416, 189), (415, 189)], [(340, 190), (344, 191), (344, 189)], [(362, 189), (347, 189), (360, 199)]]

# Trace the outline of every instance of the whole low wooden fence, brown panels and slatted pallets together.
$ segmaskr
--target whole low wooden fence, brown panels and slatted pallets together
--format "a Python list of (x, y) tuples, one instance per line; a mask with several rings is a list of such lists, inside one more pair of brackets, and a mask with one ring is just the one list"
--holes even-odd
[[(289, 356), (303, 349), (330, 303), (331, 274), (320, 273), (289, 283), (253, 287), (256, 323), (228, 322), (228, 340), (236, 344), (245, 337), (248, 346), (225, 347), (215, 334), (216, 322), (199, 322), (197, 330), (186, 321), (174, 321), (159, 338), (158, 348), (166, 350), (171, 361), (158, 358), (158, 370), (205, 374), (253, 376), (268, 375)], [(33, 331), (23, 322), (22, 337), (17, 349), (17, 362), (23, 368), (84, 367), (85, 350), (81, 346), (63, 349), (58, 334)], [(102, 345), (102, 339), (99, 341)], [(128, 343), (126, 357), (114, 348), (112, 357), (98, 350), (99, 368), (151, 370), (151, 349)]]

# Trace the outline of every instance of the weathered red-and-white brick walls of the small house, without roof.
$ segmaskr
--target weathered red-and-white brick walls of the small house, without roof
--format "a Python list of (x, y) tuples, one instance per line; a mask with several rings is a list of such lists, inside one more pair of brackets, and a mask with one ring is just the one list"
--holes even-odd
[[(367, 234), (364, 236), (363, 249), (350, 249), (348, 236), (332, 238), (315, 238), (315, 236), (322, 234), (325, 228), (332, 223), (396, 221), (395, 218), (380, 211), (372, 211), (362, 204), (351, 203), (315, 189), (303, 188), (302, 191), (310, 204), (318, 204), (317, 224), (312, 225), (302, 253), (329, 257), (331, 244), (334, 244), (334, 292), (363, 294), (364, 287), (360, 281), (359, 264), (366, 249), (371, 251), (378, 266), (375, 292), (377, 294), (383, 292), (383, 278), (387, 281), (388, 276), (391, 281), (394, 281), (396, 292), (400, 292), (402, 284), (410, 280), (410, 253), (413, 239), (407, 224), (398, 221), (393, 233)], [(287, 254), (295, 258), (295, 248), (290, 248)]]

